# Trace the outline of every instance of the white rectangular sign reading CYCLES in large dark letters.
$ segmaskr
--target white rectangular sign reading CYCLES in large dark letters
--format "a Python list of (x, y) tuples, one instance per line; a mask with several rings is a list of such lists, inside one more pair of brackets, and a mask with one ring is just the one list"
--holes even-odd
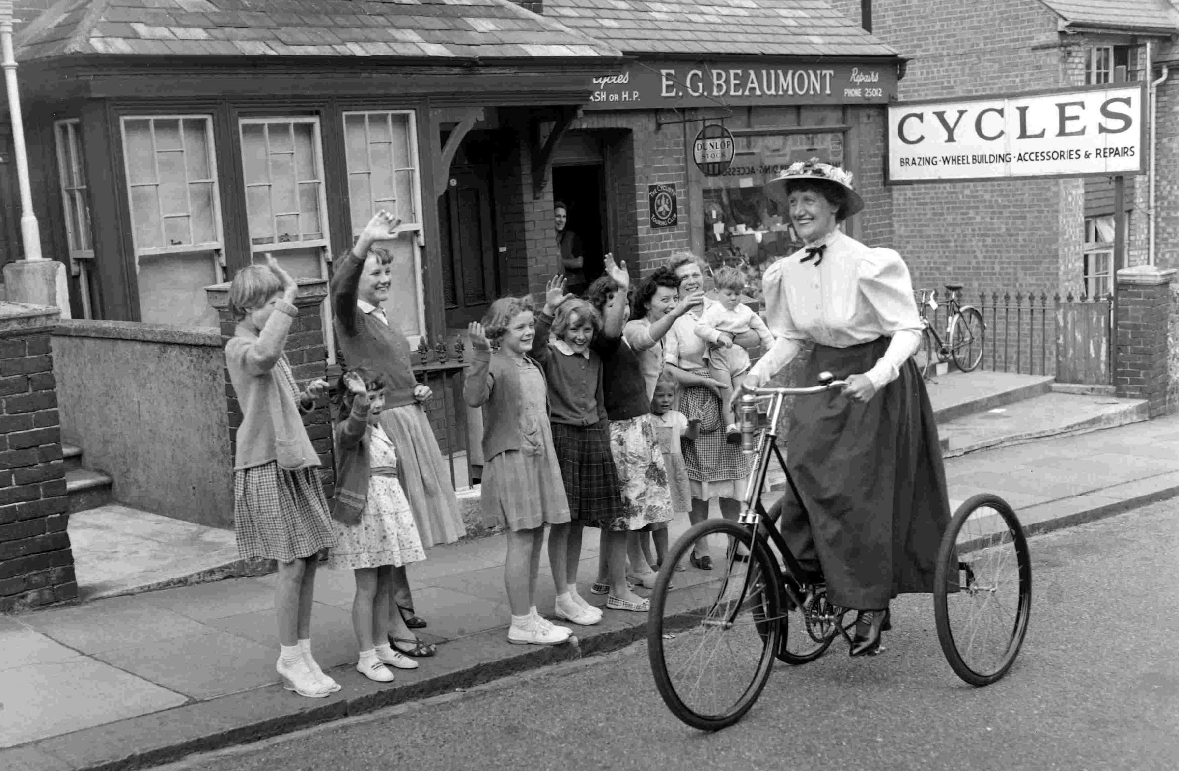
[(1142, 84), (888, 107), (890, 183), (1142, 173)]

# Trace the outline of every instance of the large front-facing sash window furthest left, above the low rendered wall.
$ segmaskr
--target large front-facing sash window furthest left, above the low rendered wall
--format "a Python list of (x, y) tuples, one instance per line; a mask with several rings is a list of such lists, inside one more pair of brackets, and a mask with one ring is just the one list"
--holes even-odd
[(140, 318), (216, 327), (205, 286), (224, 281), (209, 116), (126, 117), (123, 156)]

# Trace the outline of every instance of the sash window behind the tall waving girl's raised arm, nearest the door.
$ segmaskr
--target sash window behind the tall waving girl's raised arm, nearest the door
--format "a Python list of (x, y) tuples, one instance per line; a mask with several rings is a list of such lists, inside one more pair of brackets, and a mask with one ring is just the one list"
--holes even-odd
[(390, 324), (417, 344), (426, 329), (421, 266), (421, 182), (413, 111), (347, 112), (344, 144), (353, 239), (380, 210), (417, 231), (382, 244), (393, 251), (393, 290), (384, 303)]

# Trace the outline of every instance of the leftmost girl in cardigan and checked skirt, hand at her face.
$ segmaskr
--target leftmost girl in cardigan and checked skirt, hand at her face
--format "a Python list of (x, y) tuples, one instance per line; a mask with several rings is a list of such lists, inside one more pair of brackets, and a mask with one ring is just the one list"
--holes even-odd
[(233, 529), (242, 559), (278, 564), (275, 611), (282, 646), (275, 668), (288, 691), (323, 698), (340, 685), (311, 655), (311, 606), (320, 549), (335, 546), (328, 502), (315, 468), (320, 457), (299, 417), (328, 384), (299, 393), (283, 354), (298, 314), (290, 275), (265, 265), (237, 271), (229, 307), (238, 319), (225, 344), (225, 368), (242, 406), (233, 464)]

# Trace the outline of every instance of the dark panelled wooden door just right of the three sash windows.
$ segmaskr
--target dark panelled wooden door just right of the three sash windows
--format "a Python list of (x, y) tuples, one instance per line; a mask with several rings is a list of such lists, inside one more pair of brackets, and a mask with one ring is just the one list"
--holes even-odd
[(499, 296), (490, 170), (452, 166), (440, 199), (442, 296), (449, 329), (482, 321)]

